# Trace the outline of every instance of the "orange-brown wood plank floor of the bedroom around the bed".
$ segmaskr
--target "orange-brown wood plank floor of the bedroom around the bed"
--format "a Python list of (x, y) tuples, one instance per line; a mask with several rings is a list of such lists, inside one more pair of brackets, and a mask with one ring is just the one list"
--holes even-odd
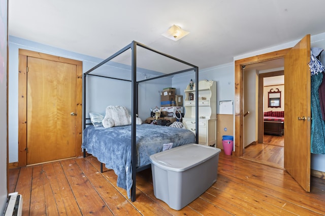
[(9, 178), (9, 192), (22, 194), (23, 215), (325, 214), (325, 180), (311, 177), (307, 193), (285, 170), (223, 151), (217, 182), (178, 211), (155, 198), (151, 169), (137, 174), (137, 200), (131, 202), (116, 186), (114, 171), (101, 173), (93, 156), (10, 169)]

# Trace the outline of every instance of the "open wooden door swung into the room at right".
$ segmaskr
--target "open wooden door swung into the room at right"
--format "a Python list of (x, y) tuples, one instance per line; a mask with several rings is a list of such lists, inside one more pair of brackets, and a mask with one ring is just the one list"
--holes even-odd
[(310, 35), (306, 35), (284, 56), (284, 168), (307, 192), (311, 128), (309, 61)]

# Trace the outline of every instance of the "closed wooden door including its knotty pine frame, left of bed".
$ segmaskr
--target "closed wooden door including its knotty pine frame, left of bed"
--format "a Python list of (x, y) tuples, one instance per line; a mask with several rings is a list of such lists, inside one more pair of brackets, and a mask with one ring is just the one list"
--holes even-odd
[(81, 62), (31, 51), (19, 58), (18, 165), (80, 156)]

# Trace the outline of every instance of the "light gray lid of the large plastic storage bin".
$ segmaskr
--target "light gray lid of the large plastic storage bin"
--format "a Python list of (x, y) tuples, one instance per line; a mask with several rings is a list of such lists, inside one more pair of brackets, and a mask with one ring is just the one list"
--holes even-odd
[(211, 146), (188, 144), (153, 154), (150, 161), (165, 170), (184, 171), (207, 161), (220, 151)]

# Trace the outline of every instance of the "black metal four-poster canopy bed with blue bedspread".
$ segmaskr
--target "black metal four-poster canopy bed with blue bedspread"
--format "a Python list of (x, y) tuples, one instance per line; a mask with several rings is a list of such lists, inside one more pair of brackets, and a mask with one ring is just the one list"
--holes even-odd
[[(131, 72), (131, 78), (123, 79), (116, 78), (116, 76), (112, 76), (111, 74), (103, 74), (103, 70), (98, 70), (103, 65), (110, 64), (116, 61), (116, 57), (119, 56), (119, 63), (125, 58), (120, 58), (121, 54), (131, 51), (130, 62), (128, 67)], [(166, 72), (159, 72), (159, 74), (155, 77), (145, 77), (141, 79), (137, 77), (137, 73), (142, 68), (145, 68), (145, 63), (152, 63), (153, 59), (148, 59), (146, 56), (144, 58), (145, 61), (141, 62), (141, 55), (146, 52), (152, 53), (153, 58), (164, 59), (161, 60), (160, 63), (156, 63), (160, 67), (171, 66), (173, 62), (175, 62), (175, 70), (168, 69)], [(140, 55), (139, 55), (140, 54)], [(140, 61), (139, 61), (140, 60)], [(167, 64), (165, 61), (169, 61)], [(173, 61), (173, 62), (171, 62)], [(125, 65), (125, 61), (122, 65)], [(182, 65), (181, 67), (179, 65)], [(181, 69), (180, 69), (181, 68)], [(96, 72), (100, 71), (100, 72)], [(83, 77), (83, 155), (86, 156), (86, 151), (96, 157), (100, 162), (104, 163), (105, 166), (109, 169), (114, 169), (115, 173), (118, 175), (117, 186), (126, 189), (127, 195), (130, 198), (131, 191), (131, 200), (136, 200), (136, 172), (141, 171), (143, 169), (149, 168), (151, 166), (149, 161), (150, 154), (157, 153), (159, 151), (163, 151), (161, 149), (161, 145), (164, 143), (171, 142), (173, 143), (172, 147), (185, 145), (189, 143), (198, 143), (198, 122), (196, 121), (196, 134), (194, 135), (191, 131), (188, 131), (184, 128), (177, 127), (168, 127), (168, 126), (160, 126), (160, 125), (150, 125), (150, 124), (137, 124), (137, 113), (138, 113), (138, 85), (142, 82), (147, 82), (149, 80), (158, 79), (162, 77), (172, 77), (179, 73), (184, 72), (194, 72), (195, 73), (195, 81), (196, 88), (198, 88), (198, 72), (199, 69), (197, 66), (184, 62), (180, 59), (167, 55), (165, 53), (161, 53), (157, 50), (153, 50), (143, 44), (140, 44), (137, 41), (132, 41), (131, 44), (127, 45), (120, 51), (116, 52), (109, 58), (105, 59), (98, 65), (94, 66), (90, 70), (84, 73)], [(105, 73), (105, 71), (104, 71)], [(87, 87), (87, 78), (89, 76), (100, 76), (109, 79), (118, 79), (125, 82), (131, 83), (132, 89), (132, 102), (131, 102), (131, 113), (127, 113), (126, 116), (129, 116), (129, 124), (128, 125), (117, 125), (112, 127), (105, 128), (103, 126), (94, 126), (92, 123), (89, 123), (90, 118), (87, 118), (87, 114), (91, 112), (91, 110), (87, 110), (87, 94), (88, 91), (91, 91), (90, 88)], [(120, 91), (123, 92), (122, 90)], [(198, 92), (196, 91), (196, 98), (198, 98)], [(125, 94), (125, 93), (124, 93)], [(108, 109), (109, 107), (107, 107)], [(120, 107), (118, 107), (120, 108)], [(106, 109), (106, 114), (107, 114)], [(198, 103), (196, 104), (196, 119), (199, 119), (198, 112)], [(116, 119), (115, 119), (116, 120)], [(114, 122), (114, 121), (113, 121)], [(104, 121), (103, 121), (104, 123)], [(110, 122), (108, 122), (110, 124)], [(188, 131), (189, 133), (187, 133)], [(159, 133), (158, 133), (159, 132)], [(114, 133), (112, 135), (112, 133)], [(148, 133), (152, 135), (155, 134), (155, 138), (148, 136)], [(157, 135), (160, 134), (160, 135)], [(169, 136), (171, 135), (171, 136)], [(104, 138), (103, 138), (104, 136)], [(121, 139), (117, 139), (117, 136), (122, 137)], [(154, 144), (156, 143), (156, 144)], [(160, 146), (157, 148), (155, 145)], [(114, 145), (113, 145), (114, 144)], [(152, 145), (150, 145), (152, 144)], [(121, 162), (117, 162), (118, 158), (121, 158)], [(123, 164), (124, 163), (124, 164)]]

